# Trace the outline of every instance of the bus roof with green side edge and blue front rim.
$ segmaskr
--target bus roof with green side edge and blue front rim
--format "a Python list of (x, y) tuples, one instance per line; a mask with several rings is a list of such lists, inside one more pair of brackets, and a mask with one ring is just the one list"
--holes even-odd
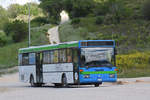
[[(19, 49), (19, 53), (40, 52), (40, 51), (47, 51), (47, 50), (60, 49), (60, 48), (82, 47), (80, 43), (85, 43), (85, 42), (113, 42), (113, 44), (111, 44), (112, 46), (114, 46), (115, 44), (114, 40), (80, 40), (80, 41), (64, 42), (64, 43), (53, 44), (53, 45), (49, 44), (49, 45), (21, 48)], [(106, 45), (106, 44), (102, 44), (102, 45)]]

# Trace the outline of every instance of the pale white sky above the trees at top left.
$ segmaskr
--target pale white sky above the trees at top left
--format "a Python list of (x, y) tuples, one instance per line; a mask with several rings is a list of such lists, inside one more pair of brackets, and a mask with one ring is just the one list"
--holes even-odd
[(27, 2), (36, 2), (39, 3), (39, 0), (0, 0), (0, 5), (4, 8), (7, 8), (10, 4), (26, 4)]

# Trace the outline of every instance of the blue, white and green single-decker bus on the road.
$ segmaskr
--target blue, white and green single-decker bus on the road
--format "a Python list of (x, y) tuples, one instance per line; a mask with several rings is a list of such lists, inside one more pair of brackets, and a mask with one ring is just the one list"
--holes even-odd
[(116, 82), (114, 40), (80, 40), (19, 49), (19, 80), (31, 86)]

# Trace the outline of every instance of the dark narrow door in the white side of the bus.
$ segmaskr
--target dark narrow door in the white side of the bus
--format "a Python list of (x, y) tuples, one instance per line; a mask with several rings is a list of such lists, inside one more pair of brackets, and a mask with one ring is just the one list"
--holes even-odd
[(43, 83), (43, 54), (42, 53), (37, 53), (36, 54), (36, 82), (37, 83)]

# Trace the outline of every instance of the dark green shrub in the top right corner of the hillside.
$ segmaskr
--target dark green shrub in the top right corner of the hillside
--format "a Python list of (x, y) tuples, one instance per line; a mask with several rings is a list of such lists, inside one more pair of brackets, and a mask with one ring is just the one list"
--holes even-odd
[(144, 4), (143, 4), (143, 7), (142, 7), (142, 13), (143, 13), (143, 16), (150, 20), (150, 1), (147, 0)]

